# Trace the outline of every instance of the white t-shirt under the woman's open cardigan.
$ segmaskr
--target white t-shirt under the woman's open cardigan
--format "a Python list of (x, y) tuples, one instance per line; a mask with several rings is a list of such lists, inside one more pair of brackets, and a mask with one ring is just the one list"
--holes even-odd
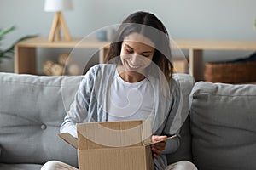
[(153, 118), (154, 108), (154, 88), (148, 78), (125, 82), (116, 71), (108, 92), (108, 121)]

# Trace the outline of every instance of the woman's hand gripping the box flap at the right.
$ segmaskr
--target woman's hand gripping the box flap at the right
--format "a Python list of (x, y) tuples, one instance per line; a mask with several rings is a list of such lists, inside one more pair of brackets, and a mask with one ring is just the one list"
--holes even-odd
[[(167, 139), (167, 136), (156, 136), (156, 135), (152, 136), (152, 142), (160, 141), (163, 139)], [(162, 141), (157, 144), (152, 144), (151, 150), (153, 152), (154, 158), (158, 159), (158, 156), (162, 154), (162, 151), (165, 150), (165, 148), (166, 148), (166, 141)]]

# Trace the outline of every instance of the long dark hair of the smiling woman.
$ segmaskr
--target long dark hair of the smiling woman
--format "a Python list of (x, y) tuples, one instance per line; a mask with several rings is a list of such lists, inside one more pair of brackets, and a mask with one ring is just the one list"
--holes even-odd
[(125, 37), (133, 32), (142, 34), (154, 42), (155, 52), (152, 61), (158, 65), (166, 79), (171, 80), (173, 65), (168, 32), (163, 23), (154, 14), (148, 12), (133, 13), (122, 22), (116, 31), (113, 42), (110, 44), (104, 62), (108, 63), (108, 61), (120, 55), (122, 42)]

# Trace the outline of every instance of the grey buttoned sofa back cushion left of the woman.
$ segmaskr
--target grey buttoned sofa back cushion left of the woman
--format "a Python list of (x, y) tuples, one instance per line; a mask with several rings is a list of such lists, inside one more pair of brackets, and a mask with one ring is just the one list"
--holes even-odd
[(56, 134), (81, 78), (0, 73), (0, 162), (77, 166), (77, 151)]

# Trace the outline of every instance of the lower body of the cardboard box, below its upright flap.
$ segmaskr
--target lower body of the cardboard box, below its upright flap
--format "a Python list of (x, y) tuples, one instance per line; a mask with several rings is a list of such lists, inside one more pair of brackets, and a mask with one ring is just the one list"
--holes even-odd
[(79, 150), (79, 170), (154, 170), (150, 147)]

